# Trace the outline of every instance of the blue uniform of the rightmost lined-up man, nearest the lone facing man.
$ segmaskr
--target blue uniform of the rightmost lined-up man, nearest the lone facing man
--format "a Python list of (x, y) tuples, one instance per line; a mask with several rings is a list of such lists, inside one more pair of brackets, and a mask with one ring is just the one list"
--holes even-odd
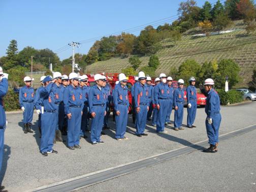
[(191, 108), (187, 107), (187, 126), (192, 126), (197, 114), (197, 89), (193, 85), (189, 85), (186, 89), (187, 104), (191, 104)]

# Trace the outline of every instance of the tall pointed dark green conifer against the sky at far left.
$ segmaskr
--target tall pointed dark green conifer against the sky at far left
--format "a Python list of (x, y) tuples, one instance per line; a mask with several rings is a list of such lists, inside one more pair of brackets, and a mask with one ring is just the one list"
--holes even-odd
[(4, 63), (4, 69), (9, 70), (15, 66), (17, 66), (18, 61), (17, 61), (17, 53), (18, 53), (18, 48), (17, 48), (17, 41), (16, 40), (11, 40), (10, 44), (8, 46), (8, 49), (6, 50), (6, 60)]

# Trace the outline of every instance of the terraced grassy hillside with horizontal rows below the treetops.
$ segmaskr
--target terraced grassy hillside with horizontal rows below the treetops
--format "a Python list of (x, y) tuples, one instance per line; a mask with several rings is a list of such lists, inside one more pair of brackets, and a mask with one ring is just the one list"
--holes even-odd
[[(195, 59), (199, 63), (223, 58), (234, 59), (241, 67), (240, 75), (243, 81), (239, 85), (246, 85), (251, 78), (252, 69), (256, 67), (256, 36), (246, 36), (243, 22), (236, 21), (229, 28), (234, 30), (228, 34), (213, 35), (210, 37), (194, 37), (191, 31), (183, 34), (181, 41), (169, 42), (167, 48), (157, 52), (161, 65), (156, 75), (161, 72), (169, 73), (172, 66), (178, 67), (186, 59)], [(193, 29), (197, 33), (197, 29)], [(140, 57), (141, 66), (148, 64), (149, 57)], [(129, 67), (129, 58), (115, 57), (106, 61), (95, 62), (86, 68), (87, 72), (119, 73), (121, 69)]]

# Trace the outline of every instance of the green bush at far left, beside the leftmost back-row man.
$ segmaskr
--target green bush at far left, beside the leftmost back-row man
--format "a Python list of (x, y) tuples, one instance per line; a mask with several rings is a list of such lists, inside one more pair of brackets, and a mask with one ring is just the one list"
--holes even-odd
[(15, 93), (12, 89), (9, 89), (4, 97), (5, 111), (15, 111), (20, 109), (19, 94)]

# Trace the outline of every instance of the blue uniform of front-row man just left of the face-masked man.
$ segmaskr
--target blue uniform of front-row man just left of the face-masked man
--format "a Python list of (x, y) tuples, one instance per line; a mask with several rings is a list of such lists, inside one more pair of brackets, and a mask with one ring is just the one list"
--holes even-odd
[(147, 107), (148, 101), (148, 88), (147, 85), (142, 85), (140, 82), (135, 85), (134, 89), (135, 109), (140, 107), (140, 112), (136, 112), (136, 134), (143, 134), (147, 122)]

